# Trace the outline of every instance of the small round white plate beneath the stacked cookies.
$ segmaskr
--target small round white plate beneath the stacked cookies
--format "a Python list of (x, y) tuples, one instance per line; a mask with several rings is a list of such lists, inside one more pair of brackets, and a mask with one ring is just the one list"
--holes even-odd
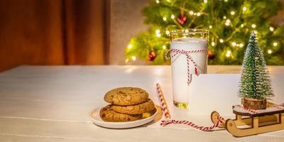
[(99, 116), (99, 110), (101, 108), (102, 107), (99, 107), (97, 109), (94, 109), (91, 112), (91, 119), (94, 122), (94, 124), (105, 127), (105, 128), (109, 128), (109, 129), (128, 129), (128, 128), (133, 128), (136, 126), (141, 126), (143, 124), (148, 124), (149, 122), (153, 121), (153, 119), (155, 119), (155, 116), (158, 114), (157, 109), (155, 109), (151, 113), (144, 113), (141, 119), (138, 119), (136, 121), (107, 122), (107, 121), (103, 121), (101, 117)]

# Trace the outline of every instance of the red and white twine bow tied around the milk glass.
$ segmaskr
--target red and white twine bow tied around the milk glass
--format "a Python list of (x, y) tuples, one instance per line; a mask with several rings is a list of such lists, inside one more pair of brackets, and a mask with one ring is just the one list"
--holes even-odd
[[(191, 73), (190, 73), (190, 62), (192, 62), (192, 64), (195, 67), (195, 75), (200, 75), (200, 72), (198, 70), (197, 64), (196, 62), (192, 59), (192, 57), (190, 56), (190, 54), (192, 53), (200, 53), (200, 52), (204, 52), (207, 51), (207, 48), (201, 48), (200, 50), (179, 50), (179, 49), (175, 49), (175, 48), (170, 48), (170, 50), (168, 50), (168, 53), (170, 54), (170, 58), (174, 58), (176, 55), (185, 55), (187, 57), (187, 84), (190, 85), (191, 82)], [(168, 58), (168, 53), (165, 53), (165, 58)]]

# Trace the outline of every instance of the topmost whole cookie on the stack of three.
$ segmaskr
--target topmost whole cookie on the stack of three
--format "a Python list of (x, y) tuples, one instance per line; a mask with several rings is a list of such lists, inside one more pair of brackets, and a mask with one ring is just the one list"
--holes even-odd
[(119, 106), (141, 104), (148, 99), (148, 92), (137, 87), (111, 89), (104, 95), (104, 101)]

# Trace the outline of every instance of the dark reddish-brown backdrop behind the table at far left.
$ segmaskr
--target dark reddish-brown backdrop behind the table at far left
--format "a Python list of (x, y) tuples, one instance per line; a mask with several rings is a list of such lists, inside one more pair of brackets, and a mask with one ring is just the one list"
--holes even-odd
[(104, 0), (0, 0), (0, 71), (107, 63)]

